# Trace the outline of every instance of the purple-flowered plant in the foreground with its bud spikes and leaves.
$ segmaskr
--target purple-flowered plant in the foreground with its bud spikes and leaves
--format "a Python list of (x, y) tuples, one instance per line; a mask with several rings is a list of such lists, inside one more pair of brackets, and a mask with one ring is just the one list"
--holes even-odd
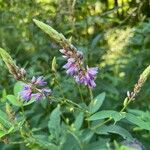
[[(67, 63), (63, 66), (67, 75), (72, 76), (78, 84), (87, 86), (92, 92), (92, 89), (96, 87), (94, 80), (98, 73), (98, 68), (85, 65), (82, 52), (77, 50), (61, 33), (41, 21), (34, 19), (34, 22), (61, 46), (62, 57), (67, 60)], [(133, 91), (127, 92), (127, 97), (120, 111), (101, 110), (100, 107), (105, 99), (105, 92), (100, 93), (95, 98), (91, 96), (91, 101), (86, 103), (84, 101), (77, 103), (65, 97), (57, 97), (52, 92), (53, 90), (48, 87), (43, 76), (33, 76), (31, 80), (28, 80), (28, 73), (25, 69), (19, 68), (11, 56), (2, 48), (0, 48), (0, 55), (9, 72), (19, 81), (14, 87), (14, 95), (7, 95), (5, 91), (3, 92), (3, 99), (7, 100), (5, 101), (5, 111), (0, 110), (0, 138), (3, 142), (26, 144), (30, 149), (36, 147), (38, 149), (52, 150), (83, 150), (88, 149), (88, 146), (97, 142), (101, 143), (99, 145), (100, 149), (106, 149), (112, 140), (109, 134), (118, 134), (123, 139), (132, 141), (130, 143), (134, 143), (133, 141), (138, 143), (129, 131), (122, 127), (122, 123), (128, 124), (130, 122), (141, 129), (150, 131), (148, 121), (126, 110), (150, 75), (150, 66), (141, 73)], [(37, 127), (32, 127), (30, 120), (27, 119), (25, 106), (35, 101), (40, 103), (43, 99), (53, 102), (45, 106), (47, 109), (46, 114), (50, 114), (49, 120), (47, 120), (47, 117), (43, 117), (45, 118), (44, 125), (38, 126), (36, 124)], [(57, 106), (50, 109), (49, 106), (53, 104), (54, 107)], [(18, 109), (20, 113), (15, 112), (13, 106), (20, 108)], [(67, 113), (70, 113), (70, 118), (74, 119), (69, 121), (68, 116), (65, 116)], [(35, 118), (39, 116), (41, 117), (43, 114), (41, 113), (37, 116), (34, 114)], [(35, 119), (33, 120), (35, 121)], [(103, 135), (108, 137), (106, 139), (102, 138)]]

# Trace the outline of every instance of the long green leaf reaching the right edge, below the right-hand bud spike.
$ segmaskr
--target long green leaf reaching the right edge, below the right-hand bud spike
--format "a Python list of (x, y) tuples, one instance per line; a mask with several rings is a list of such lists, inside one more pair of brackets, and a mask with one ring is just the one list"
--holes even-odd
[(135, 116), (135, 115), (133, 115), (131, 113), (127, 113), (125, 118), (129, 122), (139, 126), (142, 129), (150, 130), (150, 123), (149, 122), (143, 121), (142, 119), (140, 119), (139, 117), (137, 117), (137, 116)]

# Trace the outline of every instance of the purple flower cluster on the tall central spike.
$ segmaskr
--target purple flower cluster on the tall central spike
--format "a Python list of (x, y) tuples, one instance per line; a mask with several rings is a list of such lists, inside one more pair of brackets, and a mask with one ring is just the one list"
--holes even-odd
[(83, 66), (83, 54), (80, 51), (61, 49), (60, 52), (63, 54), (63, 57), (67, 59), (67, 63), (63, 66), (63, 68), (66, 69), (66, 73), (73, 76), (77, 83), (94, 88), (96, 86), (94, 79), (98, 68), (87, 67), (85, 69)]

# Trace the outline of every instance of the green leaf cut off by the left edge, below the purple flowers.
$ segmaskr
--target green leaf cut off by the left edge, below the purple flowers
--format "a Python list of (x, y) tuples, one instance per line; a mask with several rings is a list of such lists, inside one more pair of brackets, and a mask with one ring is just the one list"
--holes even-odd
[(6, 128), (10, 128), (12, 126), (7, 114), (2, 110), (0, 110), (0, 123)]

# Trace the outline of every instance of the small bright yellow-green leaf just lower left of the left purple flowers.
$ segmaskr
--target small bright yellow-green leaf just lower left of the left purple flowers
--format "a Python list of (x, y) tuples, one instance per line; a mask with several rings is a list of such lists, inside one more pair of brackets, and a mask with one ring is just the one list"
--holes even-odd
[(23, 103), (21, 101), (19, 101), (18, 98), (14, 95), (7, 95), (7, 99), (14, 106), (19, 106), (19, 107), (23, 106)]

